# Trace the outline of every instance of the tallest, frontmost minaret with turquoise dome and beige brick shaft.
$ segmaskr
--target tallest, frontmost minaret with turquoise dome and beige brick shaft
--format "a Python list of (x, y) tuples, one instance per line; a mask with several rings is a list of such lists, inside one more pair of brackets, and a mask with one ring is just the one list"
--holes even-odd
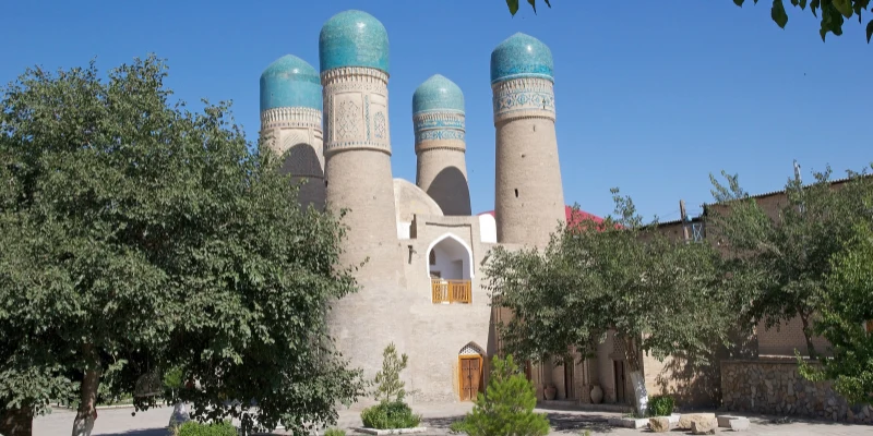
[(356, 266), (359, 286), (332, 304), (330, 323), (338, 350), (368, 377), (381, 368), (380, 350), (388, 343), (406, 349), (409, 330), (391, 171), (388, 59), (385, 26), (369, 13), (344, 11), (321, 28), (327, 209), (348, 210), (339, 261)]

